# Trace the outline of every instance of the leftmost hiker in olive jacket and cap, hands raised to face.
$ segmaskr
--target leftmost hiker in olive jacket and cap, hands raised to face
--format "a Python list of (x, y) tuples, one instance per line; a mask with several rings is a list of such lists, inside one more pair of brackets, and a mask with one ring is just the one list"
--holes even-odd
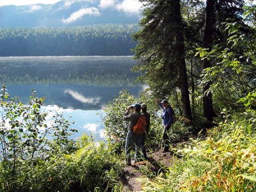
[[(132, 111), (132, 109), (133, 109), (133, 113), (130, 114), (130, 111)], [(134, 125), (137, 124), (139, 118), (141, 117), (140, 110), (141, 110), (141, 105), (136, 103), (134, 104), (134, 106), (129, 106), (127, 108), (127, 111), (124, 114), (124, 120), (129, 121), (129, 125), (128, 125), (129, 131), (127, 133), (126, 141), (125, 141), (125, 161), (128, 165), (131, 165), (131, 150), (134, 147), (135, 147), (134, 161), (138, 162), (141, 159), (140, 147), (141, 147), (142, 135), (136, 134), (133, 131)]]

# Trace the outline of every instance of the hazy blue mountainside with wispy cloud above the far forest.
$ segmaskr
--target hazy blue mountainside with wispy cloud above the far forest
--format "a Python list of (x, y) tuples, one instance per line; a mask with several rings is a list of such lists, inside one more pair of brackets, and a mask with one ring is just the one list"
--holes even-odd
[[(25, 1), (25, 0), (24, 0)], [(131, 10), (130, 10), (131, 11)], [(59, 1), (56, 4), (0, 6), (0, 27), (72, 27), (94, 24), (138, 24), (140, 13), (95, 1)]]

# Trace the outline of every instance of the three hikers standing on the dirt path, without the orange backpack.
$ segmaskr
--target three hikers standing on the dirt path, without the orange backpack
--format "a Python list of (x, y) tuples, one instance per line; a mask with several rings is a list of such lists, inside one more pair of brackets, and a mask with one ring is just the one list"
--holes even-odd
[[(173, 109), (171, 108), (168, 100), (164, 99), (161, 102), (156, 100), (156, 103), (163, 109), (163, 141), (162, 148), (163, 152), (168, 152), (170, 147), (168, 130), (173, 123)], [(132, 113), (133, 111), (133, 113)], [(134, 125), (137, 124), (139, 118), (145, 116), (146, 126), (143, 134), (136, 134), (134, 132)], [(147, 152), (145, 147), (145, 137), (150, 128), (150, 115), (147, 112), (147, 104), (134, 104), (129, 106), (124, 114), (124, 120), (129, 121), (128, 133), (125, 141), (125, 161), (127, 165), (131, 165), (131, 150), (135, 147), (134, 163), (147, 159)]]

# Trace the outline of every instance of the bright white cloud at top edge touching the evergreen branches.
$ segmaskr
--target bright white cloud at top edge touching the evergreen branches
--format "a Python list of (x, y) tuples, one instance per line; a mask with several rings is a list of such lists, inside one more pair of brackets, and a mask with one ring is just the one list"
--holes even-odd
[(117, 10), (125, 13), (140, 14), (142, 3), (138, 0), (124, 0), (122, 3), (116, 5)]

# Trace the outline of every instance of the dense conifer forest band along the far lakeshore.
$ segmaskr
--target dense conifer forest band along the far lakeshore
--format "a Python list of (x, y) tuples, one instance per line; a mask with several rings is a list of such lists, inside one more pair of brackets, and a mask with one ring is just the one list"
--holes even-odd
[(128, 56), (136, 24), (0, 28), (0, 56)]

